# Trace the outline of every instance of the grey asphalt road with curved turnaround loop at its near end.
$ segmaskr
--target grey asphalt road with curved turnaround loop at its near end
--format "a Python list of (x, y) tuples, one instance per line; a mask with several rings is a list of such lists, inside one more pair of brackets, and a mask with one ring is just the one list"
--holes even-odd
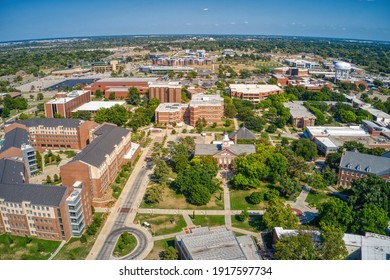
[(99, 254), (96, 257), (97, 260), (113, 259), (112, 252), (114, 251), (116, 241), (118, 240), (118, 237), (125, 231), (133, 234), (136, 237), (138, 244), (135, 250), (131, 254), (123, 258), (124, 260), (135, 259), (146, 249), (147, 246), (146, 235), (137, 228), (125, 226), (125, 221), (131, 208), (136, 206), (134, 205), (135, 199), (142, 185), (142, 181), (144, 177), (147, 175), (147, 171), (148, 169), (146, 167), (142, 168), (141, 171), (138, 173), (136, 179), (132, 183), (131, 189), (123, 205), (120, 208), (121, 210), (119, 210), (120, 212), (114, 222), (111, 232), (107, 236), (102, 249), (100, 250)]

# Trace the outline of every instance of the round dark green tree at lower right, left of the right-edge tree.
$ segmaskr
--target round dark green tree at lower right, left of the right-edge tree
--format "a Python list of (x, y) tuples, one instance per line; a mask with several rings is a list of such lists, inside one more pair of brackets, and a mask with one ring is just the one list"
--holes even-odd
[(318, 207), (321, 228), (338, 228), (345, 232), (353, 222), (352, 207), (339, 198), (331, 198)]

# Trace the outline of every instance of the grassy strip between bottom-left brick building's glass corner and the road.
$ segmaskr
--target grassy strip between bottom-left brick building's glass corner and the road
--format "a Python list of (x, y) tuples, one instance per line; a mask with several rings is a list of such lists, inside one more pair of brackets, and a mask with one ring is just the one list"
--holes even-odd
[(80, 238), (72, 237), (54, 257), (55, 260), (85, 260), (96, 241), (96, 237), (99, 235), (99, 232), (104, 225), (107, 214), (95, 213), (94, 217), (100, 217), (103, 219), (102, 226), (97, 230), (97, 233), (93, 236), (89, 236), (84, 233), (87, 236), (86, 243), (81, 243)]

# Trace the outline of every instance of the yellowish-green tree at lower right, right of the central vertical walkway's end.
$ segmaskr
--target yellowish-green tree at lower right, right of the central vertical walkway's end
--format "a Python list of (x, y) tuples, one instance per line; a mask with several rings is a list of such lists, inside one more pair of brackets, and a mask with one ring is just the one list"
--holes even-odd
[(298, 218), (292, 212), (291, 206), (284, 205), (280, 199), (269, 202), (263, 221), (268, 229), (274, 227), (294, 229), (298, 226)]

